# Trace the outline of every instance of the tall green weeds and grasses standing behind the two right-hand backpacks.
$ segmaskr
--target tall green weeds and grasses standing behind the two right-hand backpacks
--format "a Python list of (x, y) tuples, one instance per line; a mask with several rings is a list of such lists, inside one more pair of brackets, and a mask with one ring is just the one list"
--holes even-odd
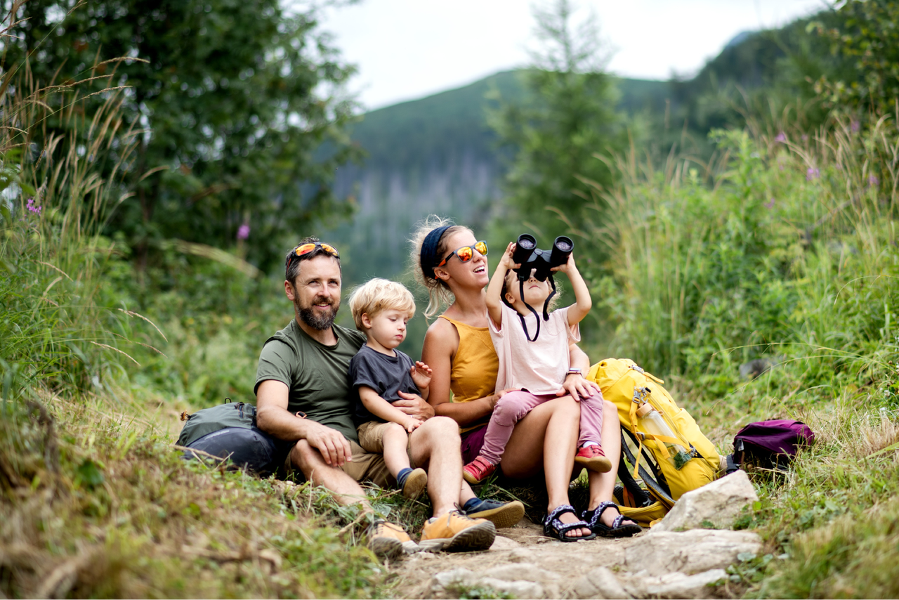
[(846, 124), (826, 135), (719, 132), (714, 174), (685, 161), (642, 178), (622, 161), (628, 184), (608, 194), (609, 219), (593, 229), (612, 245), (597, 292), (618, 324), (613, 354), (713, 398), (758, 354), (808, 359), (806, 377), (820, 383), (860, 384), (872, 359), (883, 371), (899, 276), (883, 219), (896, 202), (881, 192), (891, 184), (868, 175), (866, 152), (892, 148), (884, 136), (894, 134), (862, 137)]

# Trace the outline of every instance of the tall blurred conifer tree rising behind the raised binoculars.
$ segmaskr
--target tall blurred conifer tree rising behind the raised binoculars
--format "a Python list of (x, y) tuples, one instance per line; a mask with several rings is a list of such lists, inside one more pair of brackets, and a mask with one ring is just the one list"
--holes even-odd
[(591, 20), (574, 30), (572, 13), (567, 0), (537, 10), (545, 48), (522, 74), (525, 101), (499, 98), (500, 107), (488, 115), (513, 152), (505, 179), (509, 214), (497, 224), (503, 238), (513, 239), (524, 227), (547, 239), (570, 233), (590, 203), (590, 185), (605, 189), (612, 182), (609, 167), (595, 155), (610, 156), (625, 144), (614, 80), (601, 71), (595, 25)]

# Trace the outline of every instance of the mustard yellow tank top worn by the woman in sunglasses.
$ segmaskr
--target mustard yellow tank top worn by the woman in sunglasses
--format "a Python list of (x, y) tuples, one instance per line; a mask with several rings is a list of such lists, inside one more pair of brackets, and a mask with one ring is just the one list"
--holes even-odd
[[(490, 331), (487, 327), (472, 327), (443, 315), (441, 318), (452, 323), (458, 332), (458, 350), (449, 372), (452, 401), (470, 402), (494, 393), (500, 360), (490, 339)], [(462, 432), (478, 425), (481, 424), (463, 427)]]

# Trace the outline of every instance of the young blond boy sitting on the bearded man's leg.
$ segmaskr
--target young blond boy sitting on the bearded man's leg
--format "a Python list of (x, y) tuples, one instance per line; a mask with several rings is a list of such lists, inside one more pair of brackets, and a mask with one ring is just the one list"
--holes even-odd
[(372, 279), (350, 296), (356, 328), (367, 342), (350, 362), (350, 388), (356, 394), (353, 420), (359, 444), (381, 452), (396, 486), (408, 498), (418, 497), (428, 482), (423, 469), (413, 469), (407, 451), (409, 433), (423, 421), (406, 415), (392, 403), (400, 393), (428, 399), (431, 368), (396, 350), (405, 340), (405, 325), (415, 314), (415, 300), (402, 283)]

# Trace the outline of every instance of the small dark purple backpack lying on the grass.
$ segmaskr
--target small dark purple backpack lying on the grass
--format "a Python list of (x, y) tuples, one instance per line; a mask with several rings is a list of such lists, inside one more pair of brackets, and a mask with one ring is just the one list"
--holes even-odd
[(814, 443), (814, 432), (802, 421), (775, 419), (750, 423), (734, 436), (734, 462), (787, 470), (800, 446)]

